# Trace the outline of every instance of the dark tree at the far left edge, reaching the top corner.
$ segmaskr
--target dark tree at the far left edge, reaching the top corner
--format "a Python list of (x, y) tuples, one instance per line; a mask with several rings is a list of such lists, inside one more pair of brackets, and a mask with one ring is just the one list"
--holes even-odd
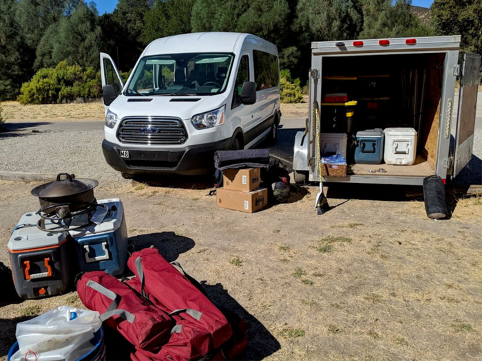
[(18, 3), (0, 0), (0, 100), (15, 98), (33, 62), (15, 17)]

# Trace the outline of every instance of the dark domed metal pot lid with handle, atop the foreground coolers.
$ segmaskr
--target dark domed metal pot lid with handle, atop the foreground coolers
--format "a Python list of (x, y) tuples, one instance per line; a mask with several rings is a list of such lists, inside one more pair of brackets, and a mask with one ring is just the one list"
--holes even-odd
[[(65, 179), (61, 179), (62, 176), (65, 176)], [(98, 182), (94, 179), (76, 179), (74, 175), (59, 173), (56, 181), (35, 187), (31, 193), (39, 198), (69, 197), (87, 192), (96, 186), (98, 186)]]

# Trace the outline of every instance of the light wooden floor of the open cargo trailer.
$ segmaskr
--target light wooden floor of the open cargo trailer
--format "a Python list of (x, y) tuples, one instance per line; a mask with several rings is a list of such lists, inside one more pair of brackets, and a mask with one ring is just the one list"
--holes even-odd
[[(384, 168), (386, 173), (370, 173), (370, 169)], [(428, 164), (427, 160), (421, 155), (417, 157), (411, 166), (395, 166), (392, 164), (353, 164), (348, 167), (348, 175), (377, 175), (393, 176), (404, 175), (407, 177), (420, 177), (434, 174), (434, 169)]]

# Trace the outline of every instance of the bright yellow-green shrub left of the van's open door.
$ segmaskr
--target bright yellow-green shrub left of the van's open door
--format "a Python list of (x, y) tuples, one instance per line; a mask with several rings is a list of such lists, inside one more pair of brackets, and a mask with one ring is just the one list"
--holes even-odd
[(55, 104), (100, 96), (100, 72), (61, 61), (54, 68), (40, 69), (28, 83), (23, 83), (18, 100), (21, 104)]

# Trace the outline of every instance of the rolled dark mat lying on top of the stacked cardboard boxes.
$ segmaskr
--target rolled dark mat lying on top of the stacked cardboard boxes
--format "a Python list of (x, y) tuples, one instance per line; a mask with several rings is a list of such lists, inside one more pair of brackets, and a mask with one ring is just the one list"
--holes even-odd
[(221, 171), (228, 168), (265, 168), (269, 166), (269, 151), (267, 149), (216, 151), (214, 166)]

